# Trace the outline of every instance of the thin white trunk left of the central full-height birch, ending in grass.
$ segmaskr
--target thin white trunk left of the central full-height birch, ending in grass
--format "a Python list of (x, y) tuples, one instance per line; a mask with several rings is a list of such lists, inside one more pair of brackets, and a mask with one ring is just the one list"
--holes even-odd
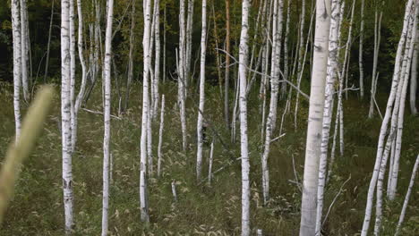
[(198, 135), (198, 149), (196, 152), (196, 179), (201, 179), (202, 169), (202, 122), (205, 107), (205, 55), (207, 54), (207, 1), (202, 0), (202, 30), (201, 30), (201, 70), (200, 70), (200, 111), (198, 112), (197, 135)]

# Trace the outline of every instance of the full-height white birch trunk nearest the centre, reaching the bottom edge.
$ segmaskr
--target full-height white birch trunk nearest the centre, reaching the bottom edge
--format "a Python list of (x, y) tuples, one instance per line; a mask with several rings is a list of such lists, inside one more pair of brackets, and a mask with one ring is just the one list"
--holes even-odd
[(240, 139), (242, 157), (242, 236), (249, 236), (250, 229), (250, 163), (247, 138), (246, 67), (249, 54), (249, 0), (242, 3), (242, 30), (239, 47), (240, 80)]

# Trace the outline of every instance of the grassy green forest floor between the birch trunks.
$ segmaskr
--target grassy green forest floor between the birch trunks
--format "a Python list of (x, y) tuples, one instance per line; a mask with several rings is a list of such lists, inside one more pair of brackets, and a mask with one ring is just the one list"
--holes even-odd
[[(197, 186), (196, 117), (191, 93), (187, 100), (187, 129), (189, 149), (182, 153), (179, 113), (175, 106), (177, 86), (168, 82), (162, 89), (167, 94), (165, 131), (163, 135), (162, 176), (149, 178), (150, 224), (140, 221), (139, 208), (139, 147), (141, 136), (141, 84), (134, 84), (130, 109), (121, 120), (112, 119), (111, 153), (113, 169), (110, 189), (110, 235), (238, 235), (241, 223), (241, 172), (236, 161), (217, 173), (211, 185)], [(60, 100), (58, 89), (53, 112), (48, 116), (36, 151), (24, 164), (16, 184), (15, 195), (5, 215), (0, 235), (64, 235), (64, 206), (61, 181)], [(381, 110), (387, 101), (381, 94)], [(116, 94), (114, 95), (116, 97)], [(233, 96), (232, 96), (233, 97)], [(193, 100), (192, 100), (193, 99)], [(114, 99), (112, 114), (116, 114)], [(0, 160), (13, 140), (13, 88), (0, 89)], [(291, 114), (286, 114), (283, 132), (286, 135), (272, 143), (269, 156), (270, 196), (269, 206), (262, 206), (261, 196), (261, 115), (257, 94), (249, 98), (249, 150), (251, 158), (252, 209), (251, 223), (255, 233), (262, 229), (264, 235), (297, 235), (300, 223), (301, 192), (295, 181), (302, 180), (308, 102), (303, 101), (294, 127), (293, 100)], [(331, 206), (324, 223), (324, 235), (354, 235), (360, 232), (366, 203), (367, 189), (375, 161), (376, 145), (381, 119), (378, 115), (368, 120), (368, 101), (360, 101), (355, 94), (344, 101), (345, 152), (338, 155), (334, 173), (326, 187), (324, 215), (342, 187), (336, 202)], [(25, 105), (24, 105), (25, 106)], [(86, 105), (90, 110), (101, 111), (101, 97), (96, 89)], [(278, 103), (278, 137), (284, 101)], [(26, 107), (23, 107), (22, 114)], [(407, 110), (407, 109), (406, 109)], [(205, 114), (223, 141), (237, 158), (240, 156), (240, 135), (237, 123), (237, 140), (230, 142), (224, 125), (223, 101), (217, 87), (207, 87)], [(159, 117), (159, 115), (158, 115)], [(159, 118), (153, 123), (154, 169), (157, 170), (157, 143)], [(398, 196), (394, 202), (385, 201), (382, 235), (393, 235), (412, 172), (415, 156), (419, 153), (419, 119), (406, 111), (405, 131), (400, 160)], [(212, 139), (210, 129), (207, 129)], [(333, 130), (332, 130), (333, 131)], [(216, 138), (213, 170), (229, 163), (231, 155)], [(75, 232), (73, 235), (99, 235), (102, 206), (102, 142), (103, 118), (81, 110), (76, 151), (73, 155), (73, 190)], [(331, 143), (331, 141), (330, 141)], [(293, 159), (295, 164), (293, 164)], [(209, 145), (204, 146), (204, 167), (208, 173)], [(295, 171), (294, 171), (295, 166)], [(176, 181), (178, 200), (174, 201), (171, 182)], [(387, 186), (385, 183), (384, 186)], [(419, 189), (412, 193), (407, 208), (402, 235), (419, 235)], [(374, 219), (374, 216), (373, 218)], [(373, 221), (370, 229), (373, 228)], [(210, 233), (214, 232), (214, 233)]]

